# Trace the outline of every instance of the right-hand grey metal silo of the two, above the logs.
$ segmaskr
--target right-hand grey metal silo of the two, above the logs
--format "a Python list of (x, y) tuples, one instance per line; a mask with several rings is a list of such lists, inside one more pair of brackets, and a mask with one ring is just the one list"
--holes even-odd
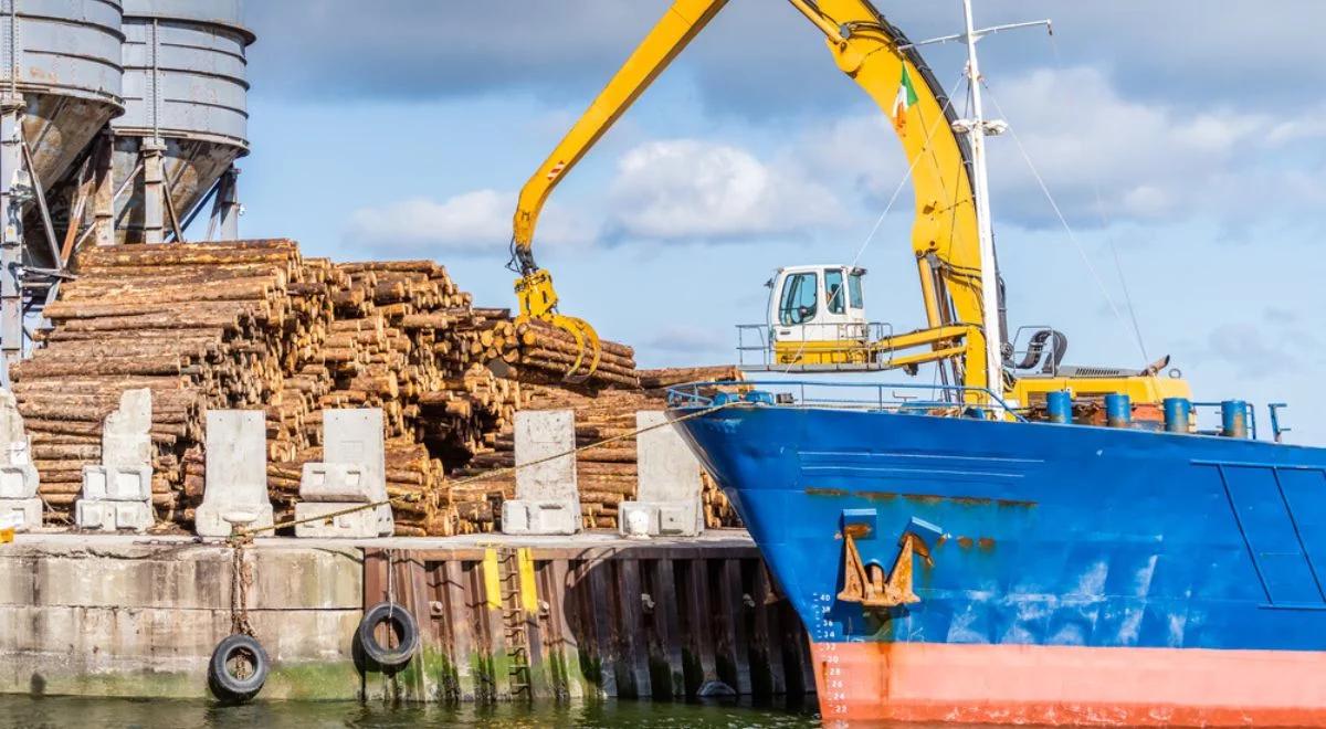
[[(233, 199), (233, 163), (248, 154), (240, 0), (125, 0), (125, 114), (114, 131), (117, 243), (160, 243), (187, 227), (210, 194)], [(224, 178), (224, 179), (223, 179)], [(235, 215), (220, 237), (233, 237)], [(174, 235), (172, 235), (174, 233)]]

